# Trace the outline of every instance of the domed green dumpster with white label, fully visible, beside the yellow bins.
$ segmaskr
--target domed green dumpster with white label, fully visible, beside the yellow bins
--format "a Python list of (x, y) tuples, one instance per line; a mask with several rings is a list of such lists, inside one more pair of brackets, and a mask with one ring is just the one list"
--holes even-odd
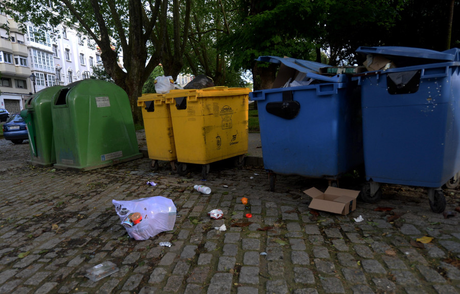
[(95, 79), (77, 81), (60, 89), (51, 110), (56, 168), (85, 171), (143, 156), (121, 87)]

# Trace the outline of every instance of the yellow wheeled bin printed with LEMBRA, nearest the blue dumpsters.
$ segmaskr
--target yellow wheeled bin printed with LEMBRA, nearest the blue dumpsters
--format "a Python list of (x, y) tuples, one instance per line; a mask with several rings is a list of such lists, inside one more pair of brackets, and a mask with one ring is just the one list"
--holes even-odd
[(248, 142), (249, 88), (210, 87), (172, 90), (170, 104), (177, 173), (188, 173), (187, 163), (201, 164), (208, 177), (209, 164), (235, 157), (242, 164)]

